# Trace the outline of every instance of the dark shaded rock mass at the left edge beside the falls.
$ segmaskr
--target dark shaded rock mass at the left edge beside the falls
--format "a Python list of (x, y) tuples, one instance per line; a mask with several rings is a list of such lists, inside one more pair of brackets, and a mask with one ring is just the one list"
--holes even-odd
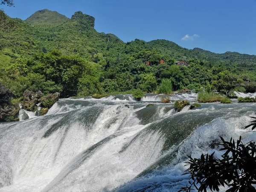
[(17, 121), (19, 103), (13, 93), (0, 83), (0, 121)]

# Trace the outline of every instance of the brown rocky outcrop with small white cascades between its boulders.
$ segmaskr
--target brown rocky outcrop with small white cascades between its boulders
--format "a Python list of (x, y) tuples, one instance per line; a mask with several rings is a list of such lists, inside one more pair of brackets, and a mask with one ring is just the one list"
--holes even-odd
[[(34, 93), (26, 90), (23, 94), (23, 108), (28, 111), (36, 111), (37, 116), (44, 115), (59, 98), (60, 93), (58, 92), (42, 96), (41, 91)], [(40, 111), (38, 111), (38, 106), (42, 107)]]

